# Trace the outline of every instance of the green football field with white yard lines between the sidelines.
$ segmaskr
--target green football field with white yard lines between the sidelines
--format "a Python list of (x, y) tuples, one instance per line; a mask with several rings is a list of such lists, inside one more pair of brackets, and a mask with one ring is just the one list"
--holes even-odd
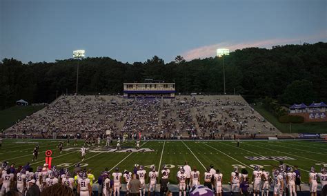
[[(77, 147), (64, 146), (63, 154), (59, 154), (57, 144), (59, 141), (53, 140), (34, 140), (34, 139), (4, 139), (0, 149), (0, 160), (15, 163), (16, 166), (25, 165), (32, 159), (32, 150), (35, 143), (39, 143), (40, 154), (36, 162), (31, 166), (36, 168), (44, 163), (45, 150), (52, 150), (52, 164), (60, 167), (68, 167), (70, 170), (75, 164), (81, 161), (81, 155), (77, 149), (67, 150), (67, 148)], [(83, 141), (79, 141), (79, 146)], [(101, 144), (104, 147), (104, 144)], [(128, 141), (122, 145), (122, 149), (135, 148), (135, 142)], [(99, 177), (99, 173), (104, 168), (114, 170), (119, 167), (132, 171), (134, 164), (149, 166), (154, 164), (156, 168), (161, 168), (164, 164), (170, 167), (170, 183), (177, 184), (177, 166), (183, 165), (188, 161), (191, 167), (196, 166), (201, 175), (205, 168), (213, 164), (223, 173), (224, 184), (228, 183), (230, 172), (233, 166), (245, 167), (252, 173), (253, 165), (261, 165), (266, 170), (272, 170), (273, 166), (278, 166), (278, 160), (250, 160), (246, 157), (281, 157), (286, 156), (288, 160), (284, 163), (290, 166), (297, 165), (302, 173), (302, 181), (308, 182), (308, 171), (311, 166), (320, 170), (321, 166), (327, 166), (327, 143), (315, 141), (241, 141), (238, 148), (235, 141), (141, 141), (141, 149), (150, 148), (152, 152), (134, 153), (107, 153), (106, 150), (99, 149), (97, 146), (90, 147), (87, 151), (86, 159), (81, 164), (86, 168), (92, 168), (93, 174)], [(250, 175), (252, 176), (252, 175)], [(203, 179), (201, 178), (201, 183)]]

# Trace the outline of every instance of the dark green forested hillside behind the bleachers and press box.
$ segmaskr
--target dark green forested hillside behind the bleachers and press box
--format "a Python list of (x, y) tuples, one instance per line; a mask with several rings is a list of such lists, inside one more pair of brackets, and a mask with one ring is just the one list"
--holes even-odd
[[(245, 48), (224, 57), (226, 92), (252, 101), (272, 97), (282, 104), (327, 101), (327, 43)], [(57, 95), (74, 94), (77, 59), (0, 63), (0, 108), (18, 99), (50, 103)], [(110, 57), (79, 60), (79, 94), (108, 95), (123, 92), (124, 82), (157, 79), (175, 82), (177, 93), (224, 92), (223, 59), (184, 60), (165, 63), (154, 56), (144, 62), (123, 63)]]

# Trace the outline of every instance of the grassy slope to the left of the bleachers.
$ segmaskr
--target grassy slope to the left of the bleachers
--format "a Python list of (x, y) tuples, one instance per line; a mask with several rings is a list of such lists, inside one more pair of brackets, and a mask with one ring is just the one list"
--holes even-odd
[(44, 106), (13, 106), (0, 110), (0, 131), (12, 126), (16, 121), (25, 119), (26, 116), (41, 110)]

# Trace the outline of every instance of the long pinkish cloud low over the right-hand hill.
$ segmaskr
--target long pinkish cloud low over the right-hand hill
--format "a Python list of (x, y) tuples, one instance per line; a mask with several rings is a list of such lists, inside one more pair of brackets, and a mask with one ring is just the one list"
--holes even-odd
[(259, 47), (259, 48), (271, 48), (272, 46), (284, 45), (290, 43), (300, 43), (317, 41), (321, 39), (327, 39), (327, 30), (313, 36), (309, 37), (301, 37), (301, 38), (292, 38), (292, 39), (266, 39), (266, 40), (258, 40), (258, 41), (250, 41), (243, 43), (235, 43), (235, 42), (221, 42), (208, 46), (201, 46), (199, 48), (195, 48), (184, 52), (182, 56), (184, 59), (190, 61), (192, 59), (205, 58), (205, 57), (214, 57), (216, 55), (217, 48), (228, 48), (230, 51), (234, 51), (242, 48), (250, 48), (250, 47)]

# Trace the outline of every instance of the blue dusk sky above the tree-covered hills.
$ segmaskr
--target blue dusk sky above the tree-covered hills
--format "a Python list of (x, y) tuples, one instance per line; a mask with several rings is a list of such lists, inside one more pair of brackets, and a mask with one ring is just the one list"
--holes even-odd
[(0, 59), (122, 62), (327, 41), (326, 0), (0, 0)]

